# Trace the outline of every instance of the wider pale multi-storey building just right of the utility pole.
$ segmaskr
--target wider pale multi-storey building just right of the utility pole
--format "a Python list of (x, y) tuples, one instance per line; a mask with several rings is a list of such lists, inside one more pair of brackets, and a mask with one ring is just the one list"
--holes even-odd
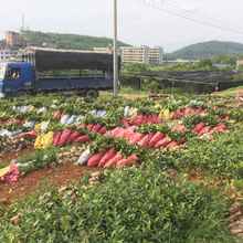
[(120, 46), (123, 53), (123, 63), (144, 63), (149, 65), (149, 47), (147, 45), (136, 46)]

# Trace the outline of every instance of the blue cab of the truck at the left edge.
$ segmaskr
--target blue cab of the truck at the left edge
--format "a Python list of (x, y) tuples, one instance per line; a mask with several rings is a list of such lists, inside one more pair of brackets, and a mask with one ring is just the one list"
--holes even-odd
[(33, 92), (30, 63), (0, 63), (0, 98), (20, 97)]

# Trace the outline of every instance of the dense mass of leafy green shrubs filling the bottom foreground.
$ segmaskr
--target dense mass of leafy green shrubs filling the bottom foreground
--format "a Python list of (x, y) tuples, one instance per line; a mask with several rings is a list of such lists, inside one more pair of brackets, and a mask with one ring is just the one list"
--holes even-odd
[[(160, 162), (160, 161), (157, 161)], [(0, 219), (2, 242), (233, 242), (216, 189), (147, 170), (105, 171), (97, 187), (14, 203)], [(18, 226), (9, 219), (22, 213)], [(220, 234), (219, 234), (220, 232)]]

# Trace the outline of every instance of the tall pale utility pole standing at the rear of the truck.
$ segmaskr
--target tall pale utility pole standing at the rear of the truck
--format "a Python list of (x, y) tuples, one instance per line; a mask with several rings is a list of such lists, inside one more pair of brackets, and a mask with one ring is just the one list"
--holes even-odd
[(118, 93), (118, 55), (117, 55), (117, 6), (116, 0), (114, 0), (114, 40), (113, 40), (113, 78), (114, 78), (114, 97), (117, 98)]

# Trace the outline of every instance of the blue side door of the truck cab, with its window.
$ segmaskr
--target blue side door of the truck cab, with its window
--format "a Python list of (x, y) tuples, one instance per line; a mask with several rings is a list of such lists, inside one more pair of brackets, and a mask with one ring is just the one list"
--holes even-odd
[(17, 65), (9, 65), (7, 68), (6, 92), (14, 92), (23, 86), (22, 70)]

